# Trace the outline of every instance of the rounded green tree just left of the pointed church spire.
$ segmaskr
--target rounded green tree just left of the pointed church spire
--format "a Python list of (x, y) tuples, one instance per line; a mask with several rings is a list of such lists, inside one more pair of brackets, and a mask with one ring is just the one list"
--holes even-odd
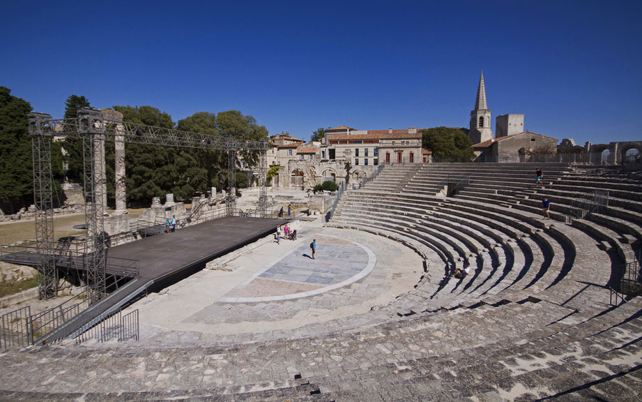
[(422, 147), (432, 151), (437, 162), (470, 162), (475, 156), (471, 140), (461, 129), (435, 127), (421, 133)]

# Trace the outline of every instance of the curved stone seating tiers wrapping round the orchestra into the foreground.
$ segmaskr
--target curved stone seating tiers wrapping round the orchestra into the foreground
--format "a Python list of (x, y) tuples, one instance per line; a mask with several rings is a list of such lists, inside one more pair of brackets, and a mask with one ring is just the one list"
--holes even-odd
[[(548, 177), (555, 166), (539, 167)], [(402, 168), (386, 166), (380, 177)], [(6, 352), (1, 382), (14, 391), (0, 391), (0, 399), (642, 399), (642, 371), (636, 366), (642, 357), (642, 343), (636, 342), (642, 300), (609, 306), (603, 285), (611, 255), (595, 247), (590, 228), (542, 221), (541, 194), (525, 198), (510, 185), (436, 198), (420, 188), (382, 191), (378, 180), (348, 191), (330, 225), (378, 233), (418, 251), (429, 266), (413, 290), (337, 320), (344, 327), (333, 325), (332, 332), (316, 336), (297, 332), (271, 341), (238, 336), (229, 344), (176, 345), (170, 339), (171, 346), (159, 348), (125, 342)], [(564, 195), (555, 197), (563, 207)], [(599, 215), (597, 223), (581, 223), (613, 231), (624, 223)], [(456, 281), (445, 262), (464, 256), (471, 258), (474, 272)], [(19, 365), (37, 370), (24, 375), (12, 369)], [(113, 373), (115, 384), (106, 380)]]

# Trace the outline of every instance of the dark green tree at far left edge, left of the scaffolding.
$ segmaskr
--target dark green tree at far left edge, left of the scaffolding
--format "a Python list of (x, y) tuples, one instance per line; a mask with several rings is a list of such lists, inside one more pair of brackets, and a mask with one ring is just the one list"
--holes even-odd
[(13, 213), (33, 200), (31, 105), (0, 87), (0, 207)]

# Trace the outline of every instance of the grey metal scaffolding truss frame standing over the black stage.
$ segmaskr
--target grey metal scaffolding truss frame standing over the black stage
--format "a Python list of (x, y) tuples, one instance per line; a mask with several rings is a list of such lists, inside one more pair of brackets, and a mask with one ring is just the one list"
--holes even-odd
[(86, 201), (86, 271), (87, 285), (91, 299), (96, 301), (105, 295), (105, 265), (107, 245), (105, 244), (105, 141), (119, 141), (132, 144), (161, 145), (226, 151), (228, 155), (229, 194), (227, 214), (233, 215), (236, 207), (236, 154), (238, 151), (252, 151), (259, 154), (261, 190), (259, 211), (266, 216), (266, 151), (267, 141), (240, 140), (238, 138), (190, 133), (172, 128), (146, 126), (105, 119), (98, 110), (83, 109), (75, 119), (51, 119), (49, 114), (32, 113), (29, 119), (29, 134), (33, 151), (33, 194), (36, 212), (36, 246), (38, 247), (38, 284), (40, 297), (47, 299), (56, 295), (58, 278), (54, 255), (53, 225), (53, 180), (51, 166), (52, 137), (82, 140), (84, 166), (84, 195)]

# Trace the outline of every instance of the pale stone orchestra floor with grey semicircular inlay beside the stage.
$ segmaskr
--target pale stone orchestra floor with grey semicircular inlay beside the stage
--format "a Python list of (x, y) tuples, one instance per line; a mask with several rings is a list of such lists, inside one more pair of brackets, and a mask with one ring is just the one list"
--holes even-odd
[(130, 309), (139, 309), (141, 341), (227, 343), (239, 336), (306, 336), (389, 320), (390, 312), (372, 308), (388, 306), (423, 274), (422, 258), (391, 239), (358, 230), (301, 229), (296, 241), (240, 255), (229, 262), (231, 271), (204, 269), (137, 302)]

